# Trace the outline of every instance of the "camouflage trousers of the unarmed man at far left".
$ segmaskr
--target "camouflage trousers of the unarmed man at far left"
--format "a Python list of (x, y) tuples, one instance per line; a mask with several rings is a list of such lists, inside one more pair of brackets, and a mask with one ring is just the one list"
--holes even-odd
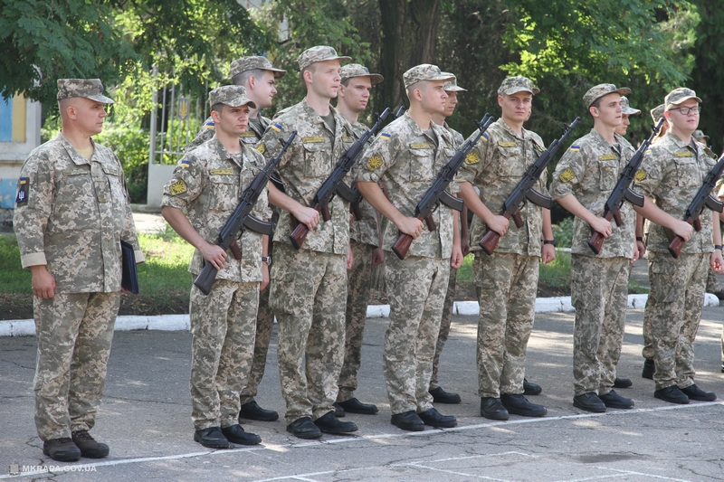
[(43, 440), (90, 430), (106, 384), (120, 291), (33, 298), (35, 427)]

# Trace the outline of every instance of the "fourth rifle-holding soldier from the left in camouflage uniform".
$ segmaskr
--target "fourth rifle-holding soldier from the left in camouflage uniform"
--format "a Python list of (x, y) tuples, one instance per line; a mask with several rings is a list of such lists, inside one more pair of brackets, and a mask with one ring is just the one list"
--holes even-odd
[[(525, 202), (520, 207), (524, 224), (513, 230), (497, 214), (529, 165), (546, 149), (538, 134), (523, 128), (538, 91), (525, 77), (503, 80), (498, 90), (502, 117), (482, 135), (460, 173), (461, 197), (477, 215), (471, 244), (476, 251), (472, 272), (481, 306), (478, 384), (481, 416), (492, 420), (507, 420), (510, 413), (542, 417), (548, 412), (523, 396), (523, 377), (535, 316), (538, 263), (556, 258), (550, 212)], [(546, 176), (541, 176), (536, 189), (548, 194)], [(478, 245), (488, 230), (501, 236), (491, 256)], [(542, 249), (541, 236), (546, 241)]]

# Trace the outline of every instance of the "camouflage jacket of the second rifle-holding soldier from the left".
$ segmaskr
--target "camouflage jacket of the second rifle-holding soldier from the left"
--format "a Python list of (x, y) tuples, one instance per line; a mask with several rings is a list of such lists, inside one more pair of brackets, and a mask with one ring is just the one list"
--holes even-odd
[[(345, 137), (354, 136), (349, 122), (333, 107), (335, 132), (329, 130), (324, 120), (311, 108), (307, 100), (292, 106), (274, 118), (257, 146), (257, 150), (270, 158), (281, 151), (280, 138), (286, 140), (292, 130), (297, 137), (287, 149), (277, 167), (286, 194), (304, 206), (310, 206), (319, 187), (332, 174), (339, 157), (345, 152)], [(291, 243), (289, 235), (297, 226), (291, 213), (280, 210), (279, 223), (274, 241)], [(329, 203), (332, 219), (319, 225), (307, 235), (302, 250), (314, 250), (347, 254), (349, 244), (349, 203), (335, 195)]]

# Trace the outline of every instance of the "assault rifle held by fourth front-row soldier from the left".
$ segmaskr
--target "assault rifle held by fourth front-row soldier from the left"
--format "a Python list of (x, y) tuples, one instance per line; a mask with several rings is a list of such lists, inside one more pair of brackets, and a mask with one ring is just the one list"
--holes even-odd
[[(523, 225), (523, 220), (520, 218), (520, 203), (524, 199), (528, 199), (531, 203), (540, 207), (550, 209), (553, 201), (548, 196), (544, 196), (533, 189), (533, 184), (538, 182), (540, 175), (546, 170), (548, 163), (553, 160), (558, 148), (566, 142), (568, 135), (576, 128), (580, 120), (581, 118), (575, 118), (567, 127), (564, 127), (563, 136), (551, 142), (548, 149), (540, 153), (536, 162), (530, 165), (526, 174), (523, 175), (523, 178), (520, 179), (518, 185), (515, 186), (515, 189), (503, 203), (502, 215), (505, 219), (513, 218), (516, 226), (521, 227)], [(500, 241), (500, 233), (489, 230), (478, 244), (485, 251), (485, 254), (490, 256), (495, 247), (498, 246), (498, 241)]]

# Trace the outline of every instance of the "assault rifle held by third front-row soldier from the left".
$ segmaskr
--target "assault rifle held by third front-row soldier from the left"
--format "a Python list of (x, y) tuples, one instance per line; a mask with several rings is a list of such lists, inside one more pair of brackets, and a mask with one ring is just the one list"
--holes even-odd
[[(452, 194), (449, 194), (445, 189), (448, 184), (452, 182), (452, 178), (458, 172), (458, 169), (465, 162), (465, 157), (470, 154), (472, 147), (474, 147), (478, 140), (482, 137), (482, 134), (490, 127), (494, 118), (487, 112), (481, 118), (480, 122), (475, 122), (478, 125), (478, 132), (475, 137), (468, 139), (462, 145), (462, 147), (450, 158), (450, 161), (443, 166), (440, 172), (437, 174), (437, 178), (434, 180), (433, 185), (425, 191), (423, 198), (414, 207), (414, 216), (420, 221), (424, 221), (427, 224), (427, 229), (435, 231), (435, 222), (433, 221), (433, 209), (438, 203), (443, 203), (455, 211), (462, 212), (462, 199), (459, 199)], [(392, 250), (400, 260), (405, 260), (407, 251), (410, 250), (410, 246), (413, 244), (413, 237), (404, 232), (400, 233), (399, 238), (392, 245)]]

